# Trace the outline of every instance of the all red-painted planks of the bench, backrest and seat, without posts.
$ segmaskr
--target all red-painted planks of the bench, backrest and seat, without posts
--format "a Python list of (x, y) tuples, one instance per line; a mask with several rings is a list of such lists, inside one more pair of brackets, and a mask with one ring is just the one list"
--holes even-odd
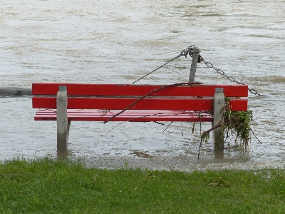
[[(112, 121), (212, 121), (212, 116), (209, 114), (204, 113), (200, 118), (197, 112), (213, 110), (215, 88), (224, 88), (224, 94), (227, 97), (247, 97), (248, 95), (247, 86), (199, 84), (171, 86), (138, 101), (141, 96), (162, 86), (33, 83), (33, 95), (39, 95), (33, 96), (33, 108), (56, 109), (55, 95), (58, 92), (58, 86), (67, 86), (68, 95), (72, 96), (68, 97), (68, 109), (85, 109), (68, 110), (68, 121), (107, 121), (128, 106), (131, 106), (128, 111), (116, 116)], [(207, 98), (193, 98), (205, 96)], [(133, 103), (135, 105), (132, 106)], [(247, 99), (232, 98), (229, 108), (232, 111), (247, 111)], [(108, 109), (110, 112), (103, 116), (97, 109)], [(38, 111), (35, 120), (56, 121), (56, 112)]]

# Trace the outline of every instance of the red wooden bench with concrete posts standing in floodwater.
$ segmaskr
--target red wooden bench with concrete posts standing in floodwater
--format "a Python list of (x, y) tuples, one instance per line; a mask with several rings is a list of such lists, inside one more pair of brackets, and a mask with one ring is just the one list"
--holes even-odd
[(33, 83), (32, 94), (33, 108), (39, 108), (34, 119), (57, 121), (58, 151), (66, 151), (71, 121), (202, 121), (214, 126), (222, 117), (224, 96), (230, 98), (231, 111), (247, 111), (247, 98), (241, 97), (248, 96), (248, 87)]

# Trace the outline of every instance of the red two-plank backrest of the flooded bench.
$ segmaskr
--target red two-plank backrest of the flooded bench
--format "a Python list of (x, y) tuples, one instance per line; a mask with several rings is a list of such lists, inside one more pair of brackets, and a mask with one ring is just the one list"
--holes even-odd
[[(163, 86), (88, 83), (33, 83), (33, 108), (56, 108), (58, 86), (66, 86), (68, 109), (122, 110), (139, 98)], [(223, 88), (231, 98), (232, 111), (247, 111), (248, 87), (245, 85), (186, 84), (169, 86), (150, 93), (130, 110), (212, 111), (215, 88)]]

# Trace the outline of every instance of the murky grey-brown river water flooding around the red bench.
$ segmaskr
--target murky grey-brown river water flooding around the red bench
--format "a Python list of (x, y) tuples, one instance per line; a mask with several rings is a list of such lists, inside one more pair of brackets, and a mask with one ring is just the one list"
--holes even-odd
[[(192, 123), (172, 123), (163, 133), (168, 123), (74, 122), (69, 156), (110, 167), (284, 166), (285, 1), (3, 0), (0, 16), (0, 86), (132, 83), (195, 44), (206, 61), (265, 95), (249, 94), (259, 140), (252, 136), (245, 153), (226, 151), (218, 159), (208, 143), (197, 161), (199, 124), (193, 135)], [(180, 57), (138, 83), (185, 82), (190, 63)], [(204, 63), (195, 80), (231, 83)], [(56, 157), (56, 123), (33, 121), (31, 97), (0, 101), (1, 159)]]

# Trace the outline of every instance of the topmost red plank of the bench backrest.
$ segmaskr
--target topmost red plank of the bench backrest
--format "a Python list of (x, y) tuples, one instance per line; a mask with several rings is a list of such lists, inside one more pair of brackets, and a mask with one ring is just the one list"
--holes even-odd
[[(118, 85), (86, 83), (33, 83), (33, 95), (56, 95), (58, 86), (67, 86), (69, 96), (145, 96), (163, 85)], [(190, 84), (170, 86), (150, 96), (214, 96), (215, 88), (224, 88), (224, 96), (247, 97), (248, 86)]]

